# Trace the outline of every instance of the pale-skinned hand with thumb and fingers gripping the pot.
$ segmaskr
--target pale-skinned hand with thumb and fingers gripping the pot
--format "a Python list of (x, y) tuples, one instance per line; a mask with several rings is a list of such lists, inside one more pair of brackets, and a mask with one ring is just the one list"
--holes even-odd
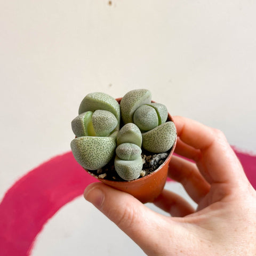
[[(174, 117), (178, 142), (169, 177), (198, 204), (163, 190), (156, 213), (133, 196), (103, 183), (84, 192), (87, 201), (121, 228), (147, 255), (256, 255), (256, 192), (225, 135), (185, 117)], [(121, 253), (122, 254), (122, 253)]]

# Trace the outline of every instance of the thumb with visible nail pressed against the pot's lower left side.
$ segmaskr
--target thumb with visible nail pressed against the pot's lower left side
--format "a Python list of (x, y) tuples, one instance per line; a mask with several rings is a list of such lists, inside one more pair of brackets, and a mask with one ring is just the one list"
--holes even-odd
[(156, 241), (169, 226), (161, 214), (151, 211), (133, 196), (99, 182), (87, 186), (84, 197), (116, 223), (143, 251), (159, 253), (162, 246)]

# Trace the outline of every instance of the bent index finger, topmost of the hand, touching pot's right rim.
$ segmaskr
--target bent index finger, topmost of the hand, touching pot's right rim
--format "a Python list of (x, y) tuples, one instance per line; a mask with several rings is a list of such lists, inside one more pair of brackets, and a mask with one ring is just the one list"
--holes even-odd
[[(209, 183), (236, 183), (244, 177), (241, 164), (222, 132), (185, 117), (174, 117), (180, 140), (199, 149), (197, 166)], [(185, 155), (185, 150), (180, 150)]]

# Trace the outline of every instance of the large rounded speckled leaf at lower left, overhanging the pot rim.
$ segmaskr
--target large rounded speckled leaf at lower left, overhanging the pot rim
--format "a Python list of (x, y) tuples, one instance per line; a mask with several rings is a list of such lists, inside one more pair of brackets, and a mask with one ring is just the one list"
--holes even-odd
[(111, 137), (78, 137), (70, 146), (80, 165), (87, 170), (97, 170), (114, 156), (116, 141)]

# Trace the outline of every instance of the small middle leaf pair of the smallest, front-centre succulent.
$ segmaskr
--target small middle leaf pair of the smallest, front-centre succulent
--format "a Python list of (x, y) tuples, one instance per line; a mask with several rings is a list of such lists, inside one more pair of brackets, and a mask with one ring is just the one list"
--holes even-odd
[(116, 148), (116, 155), (122, 160), (135, 160), (141, 156), (141, 148), (133, 143), (122, 143)]

